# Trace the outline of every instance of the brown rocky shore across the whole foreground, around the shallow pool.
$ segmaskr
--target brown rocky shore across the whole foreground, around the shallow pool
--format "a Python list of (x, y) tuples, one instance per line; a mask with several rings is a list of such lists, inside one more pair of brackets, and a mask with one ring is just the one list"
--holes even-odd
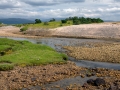
[[(0, 90), (20, 90), (22, 88), (32, 90), (29, 89), (29, 87), (35, 85), (39, 85), (42, 88), (41, 90), (47, 90), (46, 87), (43, 87), (44, 84), (75, 76), (81, 76), (82, 78), (95, 76), (98, 79), (89, 79), (83, 85), (72, 84), (66, 86), (66, 90), (120, 89), (120, 71), (103, 68), (87, 69), (78, 67), (68, 61), (67, 64), (61, 65), (50, 64), (43, 66), (15, 67), (14, 70), (0, 71)], [(64, 90), (62, 87), (58, 88)]]

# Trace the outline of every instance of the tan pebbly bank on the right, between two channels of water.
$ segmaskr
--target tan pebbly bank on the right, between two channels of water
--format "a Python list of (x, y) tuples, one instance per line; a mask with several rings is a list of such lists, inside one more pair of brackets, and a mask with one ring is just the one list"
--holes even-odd
[(79, 60), (120, 63), (120, 43), (94, 43), (87, 44), (87, 47), (65, 48), (70, 50), (70, 56)]

